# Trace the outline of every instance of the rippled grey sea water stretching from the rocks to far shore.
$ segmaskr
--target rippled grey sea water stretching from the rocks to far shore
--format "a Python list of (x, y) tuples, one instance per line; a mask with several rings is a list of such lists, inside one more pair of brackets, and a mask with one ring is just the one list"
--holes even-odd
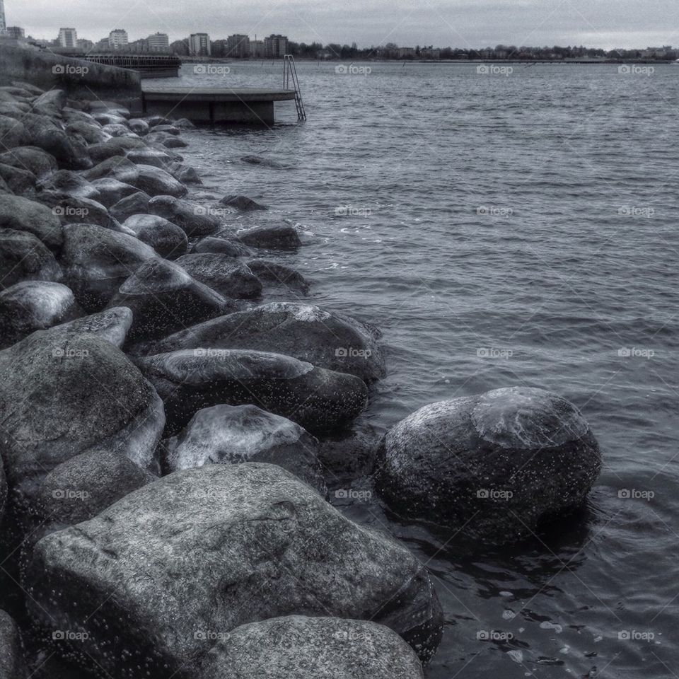
[[(431, 570), (446, 632), (429, 679), (675, 675), (679, 67), (369, 66), (298, 64), (306, 124), (279, 104), (274, 129), (198, 129), (182, 153), (205, 193), (272, 206), (245, 221), (301, 224), (286, 263), (314, 303), (383, 329), (389, 376), (364, 422), (540, 386), (584, 412), (605, 468), (583, 516), (511, 550), (445, 544), (377, 501), (342, 509)], [(236, 63), (182, 79), (281, 74)]]

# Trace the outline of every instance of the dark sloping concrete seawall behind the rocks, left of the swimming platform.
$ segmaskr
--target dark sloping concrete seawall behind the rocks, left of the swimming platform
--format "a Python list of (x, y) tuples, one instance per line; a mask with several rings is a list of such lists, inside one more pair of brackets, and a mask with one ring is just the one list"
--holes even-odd
[(0, 84), (23, 80), (64, 90), (71, 99), (114, 100), (141, 110), (141, 76), (119, 69), (52, 54), (16, 42), (0, 41)]

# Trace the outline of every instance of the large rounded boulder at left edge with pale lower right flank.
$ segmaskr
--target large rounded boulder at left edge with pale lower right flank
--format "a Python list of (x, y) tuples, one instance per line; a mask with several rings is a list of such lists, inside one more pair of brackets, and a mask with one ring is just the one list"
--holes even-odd
[(18, 499), (30, 504), (45, 476), (79, 453), (154, 464), (163, 405), (102, 337), (39, 330), (0, 352), (0, 373), (0, 443)]

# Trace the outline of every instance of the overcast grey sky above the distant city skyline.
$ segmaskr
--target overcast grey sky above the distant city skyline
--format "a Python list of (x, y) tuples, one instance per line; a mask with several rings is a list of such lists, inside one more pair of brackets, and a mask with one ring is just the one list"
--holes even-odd
[(359, 47), (679, 45), (677, 0), (5, 0), (5, 11), (8, 25), (40, 38), (74, 26), (91, 40), (124, 28), (132, 40), (284, 33)]

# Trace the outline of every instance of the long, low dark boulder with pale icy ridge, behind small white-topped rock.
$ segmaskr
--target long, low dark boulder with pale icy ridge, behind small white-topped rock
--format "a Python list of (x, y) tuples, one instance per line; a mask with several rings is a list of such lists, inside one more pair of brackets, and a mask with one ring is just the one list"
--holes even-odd
[(245, 349), (184, 349), (139, 358), (137, 365), (165, 402), (169, 434), (201, 408), (222, 403), (257, 405), (311, 434), (327, 434), (350, 424), (368, 395), (352, 375)]

